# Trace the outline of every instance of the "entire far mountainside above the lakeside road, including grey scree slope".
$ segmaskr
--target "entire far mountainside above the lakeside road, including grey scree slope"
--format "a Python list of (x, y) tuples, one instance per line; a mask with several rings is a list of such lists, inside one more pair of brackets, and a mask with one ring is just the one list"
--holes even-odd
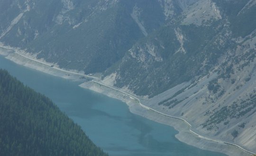
[(256, 0), (0, 0), (0, 41), (256, 151), (255, 15)]

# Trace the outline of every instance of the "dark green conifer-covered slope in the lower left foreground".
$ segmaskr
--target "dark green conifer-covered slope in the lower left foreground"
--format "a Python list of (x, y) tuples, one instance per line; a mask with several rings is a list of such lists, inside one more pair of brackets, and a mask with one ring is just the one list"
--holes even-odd
[(107, 156), (46, 96), (0, 69), (0, 156)]

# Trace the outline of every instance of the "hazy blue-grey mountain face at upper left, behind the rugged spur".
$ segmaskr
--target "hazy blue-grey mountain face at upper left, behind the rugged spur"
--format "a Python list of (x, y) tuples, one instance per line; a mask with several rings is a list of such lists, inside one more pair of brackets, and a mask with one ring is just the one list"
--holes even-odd
[(1, 0), (0, 41), (64, 68), (104, 72), (189, 1)]

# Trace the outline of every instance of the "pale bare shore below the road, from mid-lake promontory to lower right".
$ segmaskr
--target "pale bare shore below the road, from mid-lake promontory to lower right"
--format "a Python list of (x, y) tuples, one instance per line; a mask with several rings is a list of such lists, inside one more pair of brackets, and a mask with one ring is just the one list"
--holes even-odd
[(128, 95), (125, 95), (119, 91), (112, 90), (100, 84), (96, 84), (95, 82), (84, 82), (80, 84), (80, 86), (82, 88), (94, 90), (101, 94), (105, 94), (111, 98), (122, 100), (128, 105), (131, 113), (141, 115), (155, 122), (174, 127), (175, 130), (179, 131), (179, 133), (176, 134), (175, 137), (178, 140), (185, 142), (186, 144), (205, 150), (224, 153), (229, 156), (250, 156), (250, 154), (236, 147), (198, 138), (196, 135), (192, 134), (189, 131), (189, 126), (183, 121), (160, 115), (154, 111), (145, 109), (138, 104), (138, 101), (136, 99), (130, 98)]

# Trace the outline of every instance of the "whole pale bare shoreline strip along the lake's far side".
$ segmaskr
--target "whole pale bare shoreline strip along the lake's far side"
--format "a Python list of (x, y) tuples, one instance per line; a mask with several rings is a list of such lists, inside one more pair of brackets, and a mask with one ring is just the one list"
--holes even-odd
[[(190, 127), (192, 127), (191, 124), (186, 122), (185, 120), (180, 118), (181, 120), (183, 120), (181, 121), (181, 120), (177, 120), (178, 119), (177, 117), (165, 115), (161, 112), (158, 112), (150, 107), (147, 107), (141, 104), (139, 99), (137, 99), (136, 97), (124, 91), (115, 89), (113, 87), (107, 86), (100, 82), (93, 81), (93, 79), (98, 79), (96, 77), (81, 74), (81, 73), (76, 73), (76, 71), (66, 71), (64, 69), (60, 69), (58, 67), (52, 66), (53, 64), (47, 63), (46, 61), (30, 58), (28, 56), (17, 53), (16, 49), (11, 49), (9, 47), (7, 48), (1, 47), (1, 48), (4, 48), (6, 50), (0, 49), (0, 55), (5, 57), (6, 59), (9, 59), (15, 62), (16, 64), (27, 66), (29, 68), (33, 68), (47, 74), (52, 74), (52, 75), (59, 76), (65, 79), (70, 79), (73, 81), (86, 81), (80, 84), (79, 86), (85, 89), (89, 89), (89, 90), (93, 90), (93, 91), (105, 94), (111, 98), (119, 99), (125, 102), (128, 105), (131, 113), (146, 117), (158, 123), (162, 123), (162, 124), (166, 124), (174, 127), (175, 130), (179, 131), (179, 133), (176, 134), (175, 137), (186, 144), (189, 144), (204, 150), (224, 153), (230, 156), (231, 155), (232, 156), (250, 156), (250, 154), (242, 151), (238, 147), (234, 147), (235, 144), (231, 146), (231, 145), (225, 145), (224, 141), (219, 140), (219, 142), (218, 141), (216, 142), (214, 141), (214, 139), (207, 140), (209, 138), (193, 132), (190, 129)], [(86, 78), (81, 79), (81, 76)], [(98, 84), (95, 84), (95, 83), (98, 83)], [(184, 122), (186, 122), (187, 124), (184, 124)]]

